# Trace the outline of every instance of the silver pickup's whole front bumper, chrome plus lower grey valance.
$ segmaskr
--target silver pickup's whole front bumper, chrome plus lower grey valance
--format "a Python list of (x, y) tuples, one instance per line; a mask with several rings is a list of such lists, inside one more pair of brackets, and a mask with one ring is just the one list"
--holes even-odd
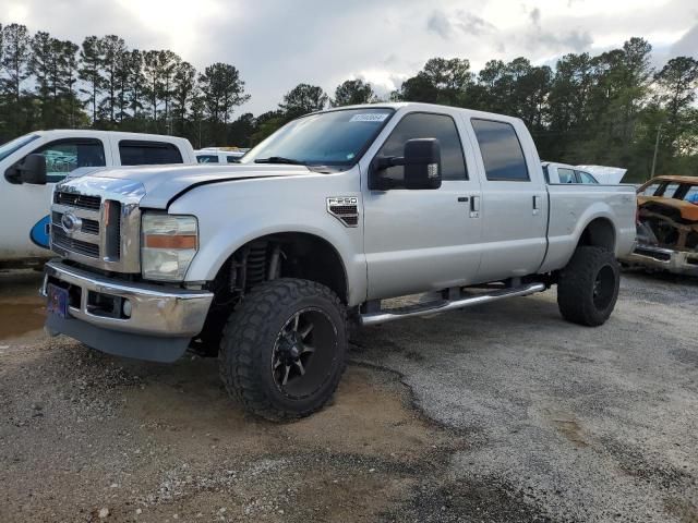
[[(41, 294), (48, 284), (69, 290), (68, 317), (49, 314), (47, 328), (110, 354), (173, 361), (204, 327), (213, 293), (122, 282), (51, 260), (46, 264)], [(131, 314), (115, 314), (100, 304), (128, 300)]]

